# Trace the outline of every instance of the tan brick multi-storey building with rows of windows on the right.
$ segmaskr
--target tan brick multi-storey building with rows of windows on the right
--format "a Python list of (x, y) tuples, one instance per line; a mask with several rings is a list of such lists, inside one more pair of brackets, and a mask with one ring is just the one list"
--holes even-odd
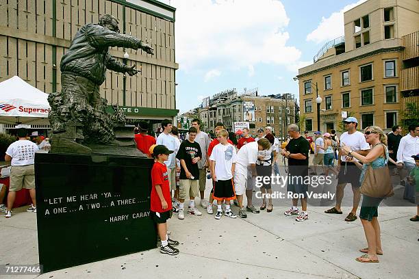
[(418, 90), (418, 51), (404, 54), (418, 49), (418, 30), (418, 0), (369, 0), (345, 12), (344, 36), (325, 44), (314, 64), (299, 69), (305, 129), (318, 127), (316, 93), (322, 98), (322, 132), (338, 130), (342, 112), (355, 116), (359, 129), (378, 125), (390, 131), (399, 124), (403, 92)]

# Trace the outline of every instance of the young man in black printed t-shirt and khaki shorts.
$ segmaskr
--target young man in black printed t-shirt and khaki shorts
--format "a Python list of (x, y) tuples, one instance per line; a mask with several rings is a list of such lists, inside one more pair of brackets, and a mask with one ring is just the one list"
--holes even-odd
[(187, 197), (190, 198), (188, 213), (202, 215), (195, 207), (195, 197), (199, 195), (199, 168), (197, 163), (202, 157), (201, 147), (194, 141), (196, 133), (198, 133), (196, 128), (190, 127), (189, 137), (181, 143), (176, 155), (176, 158), (181, 162), (178, 215), (180, 220), (185, 218), (183, 202)]

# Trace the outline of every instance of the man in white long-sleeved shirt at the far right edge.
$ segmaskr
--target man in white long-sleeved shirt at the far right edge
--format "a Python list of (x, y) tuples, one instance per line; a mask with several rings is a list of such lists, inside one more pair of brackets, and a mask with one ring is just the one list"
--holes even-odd
[[(409, 126), (409, 133), (402, 137), (397, 150), (397, 168), (404, 168), (409, 173), (415, 168), (415, 161), (412, 155), (419, 153), (419, 124), (411, 124)], [(404, 174), (405, 177), (406, 173)], [(415, 191), (413, 185), (405, 184), (405, 192), (403, 198), (415, 202)]]

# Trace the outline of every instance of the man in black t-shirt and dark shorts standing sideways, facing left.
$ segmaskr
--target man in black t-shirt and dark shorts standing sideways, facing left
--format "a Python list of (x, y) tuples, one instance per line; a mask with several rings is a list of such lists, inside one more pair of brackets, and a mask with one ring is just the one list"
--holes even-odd
[(298, 195), (301, 199), (301, 213), (297, 207), (299, 198), (292, 198), (292, 207), (285, 211), (285, 215), (298, 215), (296, 221), (302, 222), (308, 219), (307, 213), (307, 191), (308, 185), (305, 183), (305, 178), (308, 177), (308, 155), (309, 142), (305, 137), (301, 136), (300, 129), (296, 124), (288, 126), (288, 134), (291, 137), (285, 149), (282, 150), (281, 155), (288, 158), (288, 194)]

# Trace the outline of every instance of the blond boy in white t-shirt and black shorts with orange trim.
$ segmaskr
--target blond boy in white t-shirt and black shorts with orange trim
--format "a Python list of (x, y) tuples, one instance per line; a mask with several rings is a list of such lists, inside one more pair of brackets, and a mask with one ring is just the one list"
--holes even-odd
[(217, 139), (220, 142), (212, 150), (211, 174), (214, 180), (213, 198), (217, 201), (217, 213), (215, 218), (219, 220), (223, 215), (221, 205), (225, 200), (225, 215), (236, 218), (236, 214), (231, 212), (230, 200), (236, 199), (233, 185), (233, 174), (236, 168), (236, 148), (227, 142), (229, 133), (225, 130), (218, 132)]

